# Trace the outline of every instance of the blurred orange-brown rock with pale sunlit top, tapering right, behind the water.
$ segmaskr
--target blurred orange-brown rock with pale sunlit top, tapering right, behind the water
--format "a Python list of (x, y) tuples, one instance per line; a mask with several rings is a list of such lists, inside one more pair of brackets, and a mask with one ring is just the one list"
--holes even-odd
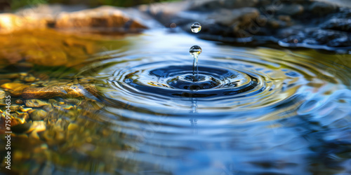
[(122, 10), (102, 6), (73, 13), (62, 12), (55, 21), (59, 29), (84, 27), (121, 27), (124, 29), (146, 29), (145, 25), (129, 17)]

